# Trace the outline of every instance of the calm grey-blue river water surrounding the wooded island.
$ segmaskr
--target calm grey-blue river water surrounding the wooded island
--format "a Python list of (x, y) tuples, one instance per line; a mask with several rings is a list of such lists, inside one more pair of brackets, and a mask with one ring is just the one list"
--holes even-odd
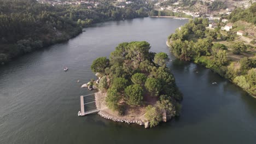
[[(211, 70), (171, 56), (166, 38), (187, 20), (142, 18), (86, 28), (67, 43), (0, 68), (0, 143), (256, 143), (256, 99)], [(184, 94), (181, 117), (152, 129), (98, 115), (78, 117), (92, 61), (124, 41), (167, 52)], [(63, 68), (68, 66), (65, 73)], [(199, 74), (195, 74), (197, 69)], [(77, 80), (80, 80), (77, 83)], [(212, 85), (216, 81), (218, 85)], [(89, 109), (89, 107), (88, 107)]]

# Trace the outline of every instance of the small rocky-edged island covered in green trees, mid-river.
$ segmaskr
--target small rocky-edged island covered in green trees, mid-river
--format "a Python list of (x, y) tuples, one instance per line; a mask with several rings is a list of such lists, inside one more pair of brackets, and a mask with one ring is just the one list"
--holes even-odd
[(98, 80), (92, 85), (98, 114), (117, 122), (154, 127), (179, 116), (182, 95), (178, 91), (164, 52), (149, 52), (146, 41), (121, 43), (109, 58), (91, 65)]

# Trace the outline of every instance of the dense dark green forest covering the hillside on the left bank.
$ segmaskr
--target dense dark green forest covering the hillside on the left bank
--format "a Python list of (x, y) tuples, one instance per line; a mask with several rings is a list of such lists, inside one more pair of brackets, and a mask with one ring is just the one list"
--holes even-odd
[(36, 0), (0, 0), (0, 64), (51, 44), (66, 41), (97, 22), (147, 16), (147, 5), (125, 8), (108, 1), (97, 8), (39, 4)]

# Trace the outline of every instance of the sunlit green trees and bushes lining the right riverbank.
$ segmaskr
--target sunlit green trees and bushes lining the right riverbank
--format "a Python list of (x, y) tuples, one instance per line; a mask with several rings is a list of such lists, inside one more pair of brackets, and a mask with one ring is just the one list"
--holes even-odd
[[(236, 15), (229, 17), (234, 20), (232, 16)], [(221, 31), (220, 23), (214, 29), (207, 26), (208, 19), (189, 20), (167, 38), (166, 45), (178, 59), (205, 65), (256, 98), (255, 45), (244, 43), (232, 31)]]

